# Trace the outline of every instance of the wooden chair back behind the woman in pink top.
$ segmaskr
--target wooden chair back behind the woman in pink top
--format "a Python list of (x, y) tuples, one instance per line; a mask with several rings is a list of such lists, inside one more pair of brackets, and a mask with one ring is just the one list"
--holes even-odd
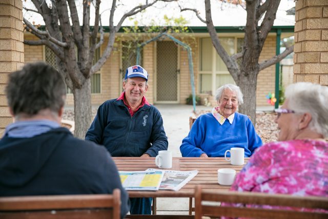
[[(207, 202), (203, 202), (207, 201)], [(216, 205), (213, 205), (213, 202)], [(259, 205), (257, 207), (220, 206), (224, 203), (241, 203)], [(266, 206), (285, 206), (288, 208), (261, 208)], [(257, 192), (233, 192), (233, 191), (202, 191), (198, 185), (195, 190), (195, 219), (202, 216), (219, 217), (248, 217), (266, 219), (310, 219), (328, 218), (328, 198), (315, 196), (292, 196), (284, 194), (268, 194)], [(295, 208), (306, 208), (309, 211), (298, 211)], [(311, 211), (325, 209), (326, 211)]]

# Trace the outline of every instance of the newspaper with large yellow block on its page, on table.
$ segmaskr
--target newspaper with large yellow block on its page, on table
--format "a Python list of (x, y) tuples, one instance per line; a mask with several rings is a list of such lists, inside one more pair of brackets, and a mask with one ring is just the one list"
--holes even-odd
[(119, 171), (122, 186), (126, 190), (158, 190), (164, 172), (161, 170)]

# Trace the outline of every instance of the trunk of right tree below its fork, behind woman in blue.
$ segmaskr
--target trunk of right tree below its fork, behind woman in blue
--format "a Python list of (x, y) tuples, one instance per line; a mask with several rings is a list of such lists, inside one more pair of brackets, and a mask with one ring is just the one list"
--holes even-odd
[(244, 103), (239, 105), (239, 112), (251, 117), (252, 123), (256, 124), (256, 84), (257, 72), (247, 71), (249, 74), (241, 72), (237, 85), (243, 94)]

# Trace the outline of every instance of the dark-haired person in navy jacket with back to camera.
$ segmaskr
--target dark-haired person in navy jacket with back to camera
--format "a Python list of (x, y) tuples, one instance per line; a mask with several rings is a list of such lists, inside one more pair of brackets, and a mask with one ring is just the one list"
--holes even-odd
[(111, 194), (118, 188), (124, 218), (128, 193), (110, 154), (60, 127), (66, 85), (59, 72), (27, 64), (9, 75), (6, 93), (15, 122), (0, 140), (0, 196)]

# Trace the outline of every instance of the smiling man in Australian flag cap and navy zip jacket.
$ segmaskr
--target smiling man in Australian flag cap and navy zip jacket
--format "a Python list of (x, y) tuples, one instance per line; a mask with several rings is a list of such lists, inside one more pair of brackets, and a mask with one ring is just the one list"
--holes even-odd
[[(148, 73), (141, 66), (127, 69), (124, 92), (101, 104), (86, 140), (104, 145), (112, 156), (154, 157), (168, 149), (159, 111), (145, 97)], [(131, 198), (131, 214), (151, 214), (151, 198)]]

